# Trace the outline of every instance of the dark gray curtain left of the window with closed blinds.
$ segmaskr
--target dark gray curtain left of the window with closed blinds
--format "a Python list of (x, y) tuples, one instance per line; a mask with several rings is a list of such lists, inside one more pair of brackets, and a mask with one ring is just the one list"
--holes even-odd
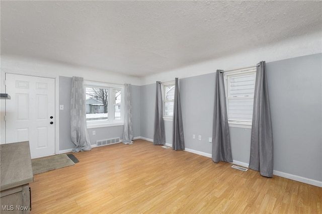
[(217, 70), (212, 127), (212, 160), (232, 162), (223, 73)]

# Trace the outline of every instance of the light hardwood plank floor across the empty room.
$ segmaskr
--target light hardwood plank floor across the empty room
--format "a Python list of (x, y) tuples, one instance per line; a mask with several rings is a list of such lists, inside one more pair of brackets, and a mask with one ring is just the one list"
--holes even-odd
[(34, 176), (31, 213), (321, 213), (322, 188), (144, 140)]

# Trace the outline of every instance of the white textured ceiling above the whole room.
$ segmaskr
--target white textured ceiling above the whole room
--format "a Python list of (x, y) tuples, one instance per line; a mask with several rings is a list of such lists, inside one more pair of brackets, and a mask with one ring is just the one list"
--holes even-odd
[(2, 55), (133, 76), (321, 29), (321, 1), (1, 1)]

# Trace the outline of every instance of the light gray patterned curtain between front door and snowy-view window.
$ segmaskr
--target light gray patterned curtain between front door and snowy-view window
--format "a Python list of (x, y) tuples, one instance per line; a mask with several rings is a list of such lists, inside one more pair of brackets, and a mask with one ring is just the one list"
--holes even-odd
[(83, 77), (73, 76), (70, 93), (70, 138), (76, 145), (72, 152), (91, 150), (86, 124), (86, 95)]

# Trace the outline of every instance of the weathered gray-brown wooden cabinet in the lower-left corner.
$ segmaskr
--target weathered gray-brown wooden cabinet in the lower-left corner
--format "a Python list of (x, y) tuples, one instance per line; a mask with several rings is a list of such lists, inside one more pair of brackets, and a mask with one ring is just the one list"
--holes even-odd
[(33, 182), (29, 141), (0, 145), (0, 212), (30, 213)]

